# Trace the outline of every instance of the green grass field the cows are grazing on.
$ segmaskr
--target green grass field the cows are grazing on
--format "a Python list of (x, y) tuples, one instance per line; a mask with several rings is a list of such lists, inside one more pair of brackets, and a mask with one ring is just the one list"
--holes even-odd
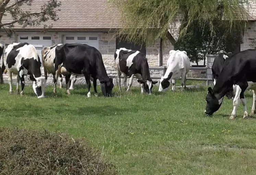
[[(187, 81), (189, 84), (190, 81)], [(15, 86), (13, 86), (15, 89)], [(75, 85), (75, 88), (77, 86)], [(86, 98), (86, 89), (66, 96), (64, 89), (37, 99), (32, 87), (25, 96), (9, 95), (0, 85), (0, 126), (42, 129), (82, 137), (101, 149), (120, 175), (255, 175), (256, 120), (229, 120), (226, 98), (212, 117), (204, 115), (207, 88), (141, 95), (139, 88), (115, 97)], [(246, 91), (248, 113), (252, 93)]]

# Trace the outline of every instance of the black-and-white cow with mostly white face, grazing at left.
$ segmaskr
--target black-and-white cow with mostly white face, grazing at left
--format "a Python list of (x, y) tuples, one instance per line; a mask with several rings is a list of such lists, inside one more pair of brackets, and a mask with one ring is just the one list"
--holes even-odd
[(36, 52), (36, 48), (28, 43), (9, 44), (5, 49), (6, 69), (8, 72), (10, 93), (12, 94), (12, 73), (17, 75), (16, 93), (19, 94), (19, 82), (21, 80), (21, 95), (24, 95), (25, 79), (24, 75), (29, 75), (33, 81), (33, 90), (37, 98), (45, 97), (46, 80), (41, 76), (41, 61)]

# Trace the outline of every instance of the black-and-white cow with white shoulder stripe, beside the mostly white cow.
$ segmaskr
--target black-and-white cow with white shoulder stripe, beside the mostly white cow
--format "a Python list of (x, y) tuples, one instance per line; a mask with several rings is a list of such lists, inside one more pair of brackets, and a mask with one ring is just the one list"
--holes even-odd
[(118, 85), (121, 91), (121, 73), (124, 74), (124, 83), (126, 89), (127, 76), (130, 78), (128, 89), (132, 86), (133, 76), (137, 78), (138, 83), (141, 84), (141, 93), (144, 90), (151, 94), (153, 85), (156, 81), (150, 78), (148, 62), (145, 55), (137, 50), (129, 50), (126, 48), (116, 49), (114, 53), (116, 69), (118, 72)]

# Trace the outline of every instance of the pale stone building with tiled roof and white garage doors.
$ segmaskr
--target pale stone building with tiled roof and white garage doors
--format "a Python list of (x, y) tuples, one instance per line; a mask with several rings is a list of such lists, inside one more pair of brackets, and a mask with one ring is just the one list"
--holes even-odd
[[(14, 1), (11, 0), (10, 3)], [(50, 29), (44, 31), (44, 24), (33, 27), (22, 28), (14, 24), (14, 35), (7, 37), (4, 31), (0, 31), (0, 43), (5, 47), (13, 42), (28, 42), (33, 44), (39, 56), (41, 49), (59, 43), (86, 43), (96, 47), (102, 54), (102, 58), (110, 76), (115, 76), (114, 52), (116, 48), (126, 47), (137, 49), (143, 52), (149, 63), (152, 77), (161, 77), (169, 56), (169, 51), (173, 49), (169, 41), (159, 39), (154, 45), (139, 46), (120, 41), (114, 34), (115, 29), (120, 25), (120, 14), (107, 0), (61, 0), (62, 5), (58, 11), (58, 21), (48, 21), (44, 24), (52, 24)], [(255, 47), (252, 41), (256, 34), (256, 1), (251, 0), (252, 8), (249, 11), (249, 22), (244, 32), (241, 50)], [(31, 6), (26, 8), (33, 11), (40, 11), (40, 6), (46, 0), (34, 0)], [(4, 16), (2, 23), (12, 21), (10, 16)], [(178, 21), (179, 23), (179, 21)], [(177, 25), (179, 26), (179, 25)], [(44, 32), (42, 32), (44, 31)], [(173, 33), (172, 33), (173, 34)], [(177, 36), (176, 36), (177, 37)], [(175, 38), (175, 37), (174, 37)], [(187, 77), (206, 77), (206, 68), (191, 67)]]

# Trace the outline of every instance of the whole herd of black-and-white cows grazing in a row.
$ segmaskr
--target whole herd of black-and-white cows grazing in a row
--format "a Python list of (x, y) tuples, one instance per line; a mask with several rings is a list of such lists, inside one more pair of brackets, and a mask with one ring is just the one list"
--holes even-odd
[[(4, 52), (4, 47), (0, 44), (0, 58)], [(105, 97), (112, 96), (113, 79), (108, 76), (103, 64), (102, 55), (95, 47), (87, 44), (67, 43), (47, 46), (42, 49), (41, 59), (36, 48), (29, 43), (13, 43), (5, 48), (6, 67), (4, 73), (8, 72), (10, 93), (12, 90), (12, 73), (17, 75), (16, 93), (19, 94), (19, 82), (21, 82), (21, 92), (24, 94), (25, 78), (33, 81), (33, 90), (37, 98), (45, 97), (45, 87), (47, 86), (47, 75), (53, 75), (53, 93), (56, 93), (56, 85), (60, 78), (60, 88), (62, 87), (62, 77), (65, 77), (66, 93), (74, 88), (77, 75), (84, 75), (88, 87), (87, 97), (91, 96), (90, 81), (93, 82), (95, 96), (97, 95), (97, 79)], [(124, 86), (129, 91), (132, 86), (133, 77), (137, 78), (141, 84), (141, 93), (151, 94), (156, 81), (150, 78), (149, 66), (145, 55), (137, 50), (126, 48), (116, 49), (114, 53), (115, 69), (117, 70), (117, 81), (121, 91), (121, 74), (124, 74)], [(41, 75), (41, 68), (44, 68), (44, 76)], [(181, 77), (182, 90), (186, 88), (186, 74), (190, 70), (190, 59), (185, 51), (170, 50), (167, 61), (167, 71), (161, 77), (158, 91), (164, 92), (170, 87), (175, 90), (175, 79)], [(224, 96), (233, 99), (233, 111), (230, 119), (236, 117), (236, 111), (240, 99), (244, 106), (244, 116), (247, 118), (246, 101), (244, 92), (247, 89), (253, 91), (253, 106), (250, 115), (255, 114), (256, 106), (256, 49), (247, 49), (239, 53), (221, 53), (212, 65), (212, 78), (214, 87), (208, 88), (206, 96), (205, 113), (212, 115), (220, 108)], [(127, 77), (129, 79), (126, 87)]]

